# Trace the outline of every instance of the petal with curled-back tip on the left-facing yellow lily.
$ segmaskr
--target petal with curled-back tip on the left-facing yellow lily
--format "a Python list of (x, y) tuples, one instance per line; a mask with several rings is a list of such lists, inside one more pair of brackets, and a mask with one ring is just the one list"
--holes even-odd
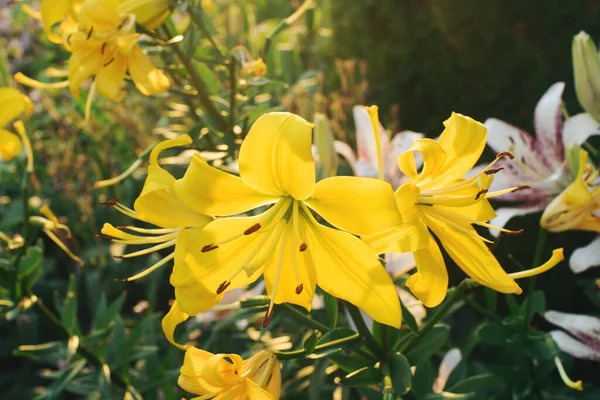
[(162, 228), (203, 227), (212, 218), (192, 211), (177, 195), (173, 185), (175, 178), (158, 165), (158, 156), (164, 149), (192, 143), (188, 135), (165, 140), (152, 150), (148, 177), (142, 193), (133, 208), (140, 219)]

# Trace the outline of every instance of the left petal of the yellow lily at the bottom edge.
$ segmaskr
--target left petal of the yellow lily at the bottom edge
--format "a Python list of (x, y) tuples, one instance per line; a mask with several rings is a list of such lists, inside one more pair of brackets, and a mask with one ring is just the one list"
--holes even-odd
[(220, 387), (212, 386), (203, 379), (203, 371), (206, 362), (213, 357), (212, 353), (189, 346), (185, 350), (183, 365), (177, 384), (187, 392), (204, 395), (216, 393), (221, 390)]

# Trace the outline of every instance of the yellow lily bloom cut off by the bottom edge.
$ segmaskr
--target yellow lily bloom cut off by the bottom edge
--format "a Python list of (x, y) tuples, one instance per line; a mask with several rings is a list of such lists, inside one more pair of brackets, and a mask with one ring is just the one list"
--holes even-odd
[(281, 392), (281, 367), (266, 350), (244, 360), (237, 354), (212, 354), (190, 346), (177, 383), (200, 395), (192, 400), (276, 400)]

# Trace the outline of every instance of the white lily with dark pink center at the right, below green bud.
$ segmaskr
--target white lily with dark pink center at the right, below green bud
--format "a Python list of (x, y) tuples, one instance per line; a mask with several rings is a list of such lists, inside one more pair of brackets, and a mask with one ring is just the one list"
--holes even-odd
[(600, 134), (598, 123), (587, 113), (563, 120), (564, 88), (563, 82), (550, 86), (535, 107), (535, 137), (495, 118), (485, 121), (487, 144), (496, 152), (509, 150), (515, 156), (514, 160), (497, 163), (504, 170), (494, 176), (490, 190), (518, 185), (531, 187), (503, 195), (500, 201), (520, 204), (497, 209), (492, 225), (503, 227), (512, 217), (543, 210), (573, 180), (565, 150)]

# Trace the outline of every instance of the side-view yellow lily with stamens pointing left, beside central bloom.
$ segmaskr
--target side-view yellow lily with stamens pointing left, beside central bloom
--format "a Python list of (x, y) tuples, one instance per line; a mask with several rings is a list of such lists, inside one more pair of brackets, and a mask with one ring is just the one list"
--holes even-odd
[[(114, 243), (152, 245), (146, 249), (124, 254), (117, 258), (137, 257), (170, 247), (176, 247), (181, 234), (185, 230), (199, 230), (212, 220), (211, 217), (194, 212), (177, 199), (173, 189), (175, 178), (168, 171), (160, 167), (158, 163), (158, 158), (163, 150), (190, 143), (192, 143), (192, 139), (188, 135), (183, 135), (176, 139), (165, 140), (152, 149), (150, 153), (150, 165), (148, 166), (148, 177), (144, 183), (142, 193), (133, 205), (133, 210), (116, 201), (105, 202), (105, 204), (114, 206), (119, 212), (133, 219), (159, 227), (155, 229), (138, 228), (135, 226), (114, 227), (111, 224), (105, 223), (101, 232), (105, 235), (105, 238), (110, 239)], [(124, 281), (129, 282), (142, 278), (174, 258), (175, 253), (172, 252), (149, 268)]]

